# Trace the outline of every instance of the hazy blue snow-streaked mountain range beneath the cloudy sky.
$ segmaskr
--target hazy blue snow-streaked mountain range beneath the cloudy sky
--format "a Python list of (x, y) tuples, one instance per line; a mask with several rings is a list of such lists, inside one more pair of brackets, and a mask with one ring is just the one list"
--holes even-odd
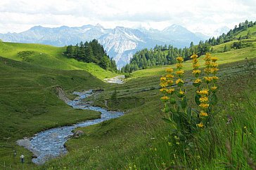
[(80, 41), (91, 41), (94, 38), (98, 39), (119, 67), (127, 64), (136, 50), (153, 48), (156, 44), (172, 44), (174, 47), (183, 48), (188, 46), (191, 41), (198, 43), (200, 40), (207, 39), (203, 34), (194, 34), (176, 24), (162, 31), (125, 27), (105, 29), (100, 24), (95, 26), (89, 24), (82, 27), (63, 26), (57, 28), (36, 26), (21, 33), (0, 34), (2, 41), (43, 43), (56, 46), (75, 45)]

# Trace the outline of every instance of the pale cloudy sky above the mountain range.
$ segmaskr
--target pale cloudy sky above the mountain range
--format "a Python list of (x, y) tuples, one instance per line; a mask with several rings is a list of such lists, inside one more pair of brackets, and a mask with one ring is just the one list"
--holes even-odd
[(80, 27), (101, 24), (164, 29), (179, 24), (210, 34), (256, 20), (256, 0), (1, 0), (0, 33), (31, 27)]

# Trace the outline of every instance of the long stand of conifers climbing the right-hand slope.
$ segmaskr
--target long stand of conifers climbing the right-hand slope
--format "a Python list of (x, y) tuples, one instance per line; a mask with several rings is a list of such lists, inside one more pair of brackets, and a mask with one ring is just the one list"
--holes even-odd
[[(189, 48), (174, 48), (172, 45), (155, 45), (155, 48), (151, 49), (143, 49), (134, 54), (129, 64), (122, 67), (121, 71), (124, 73), (132, 73), (132, 71), (136, 71), (139, 69), (146, 69), (148, 66), (156, 66), (156, 65), (166, 65), (166, 64), (174, 64), (175, 58), (178, 56), (184, 57), (184, 60), (190, 59), (190, 56), (196, 53), (198, 56), (205, 55), (206, 52), (213, 52), (212, 45), (219, 45), (222, 43), (226, 43), (228, 41), (232, 41), (236, 38), (236, 35), (248, 29), (248, 27), (253, 27), (256, 25), (256, 22), (241, 22), (238, 27), (235, 26), (234, 29), (231, 29), (227, 34), (222, 34), (217, 38), (212, 37), (206, 41), (200, 41), (198, 45), (194, 45), (191, 42)], [(250, 38), (250, 31), (247, 36), (242, 38)], [(241, 37), (240, 37), (241, 40)], [(232, 46), (232, 48), (241, 48), (241, 42)], [(230, 50), (226, 45), (224, 46), (224, 52)]]

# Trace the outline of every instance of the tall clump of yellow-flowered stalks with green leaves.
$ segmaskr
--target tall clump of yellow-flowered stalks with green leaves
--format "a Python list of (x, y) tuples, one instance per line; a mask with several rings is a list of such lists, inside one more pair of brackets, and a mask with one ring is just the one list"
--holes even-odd
[[(164, 94), (161, 100), (165, 104), (163, 110), (167, 113), (167, 117), (163, 118), (165, 122), (169, 122), (172, 125), (172, 135), (179, 136), (184, 142), (191, 141), (193, 133), (197, 132), (198, 129), (207, 127), (210, 118), (213, 114), (213, 106), (217, 104), (217, 75), (218, 64), (217, 57), (211, 57), (207, 53), (204, 57), (205, 69), (201, 71), (198, 63), (198, 55), (194, 54), (191, 56), (193, 63), (193, 86), (196, 87), (195, 101), (197, 106), (188, 106), (186, 99), (185, 80), (183, 64), (184, 59), (177, 57), (176, 68), (176, 80), (174, 80), (173, 69), (167, 69), (167, 76), (160, 78), (160, 85), (162, 88), (160, 91)], [(201, 77), (201, 73), (204, 72), (206, 76)], [(168, 80), (170, 83), (167, 83)], [(174, 87), (173, 83), (176, 83), (177, 87)], [(175, 88), (177, 90), (175, 90)], [(174, 95), (176, 94), (176, 95)], [(176, 96), (176, 97), (175, 97)]]

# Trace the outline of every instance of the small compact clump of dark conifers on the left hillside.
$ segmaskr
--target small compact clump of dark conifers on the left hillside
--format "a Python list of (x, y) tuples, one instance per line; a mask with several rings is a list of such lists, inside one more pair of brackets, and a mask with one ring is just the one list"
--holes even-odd
[(103, 46), (96, 39), (85, 43), (81, 41), (77, 45), (68, 45), (64, 54), (82, 62), (96, 63), (106, 70), (117, 71), (115, 60), (110, 59)]

